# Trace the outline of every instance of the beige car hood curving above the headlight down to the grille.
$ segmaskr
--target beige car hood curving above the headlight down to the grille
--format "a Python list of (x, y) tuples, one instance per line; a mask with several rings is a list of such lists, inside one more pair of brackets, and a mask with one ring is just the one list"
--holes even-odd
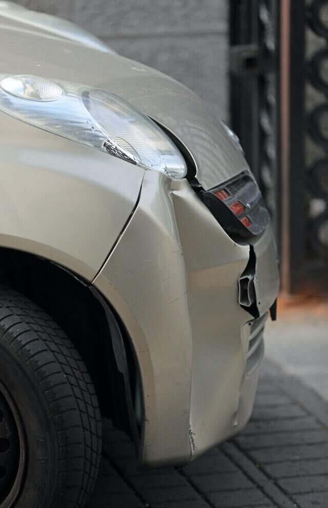
[(16, 14), (9, 19), (2, 15), (4, 10), (0, 9), (0, 72), (72, 81), (124, 98), (187, 147), (197, 168), (196, 178), (206, 190), (248, 168), (241, 150), (210, 107), (182, 84), (73, 37), (55, 36), (45, 27), (35, 29), (35, 25), (32, 30), (31, 11), (11, 10), (19, 13), (19, 19)]

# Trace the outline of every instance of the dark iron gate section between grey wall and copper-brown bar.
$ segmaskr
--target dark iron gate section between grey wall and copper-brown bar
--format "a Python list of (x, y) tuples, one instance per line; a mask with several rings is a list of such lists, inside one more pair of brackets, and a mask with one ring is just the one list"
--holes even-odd
[(257, 179), (280, 246), (279, 0), (230, 2), (231, 126)]

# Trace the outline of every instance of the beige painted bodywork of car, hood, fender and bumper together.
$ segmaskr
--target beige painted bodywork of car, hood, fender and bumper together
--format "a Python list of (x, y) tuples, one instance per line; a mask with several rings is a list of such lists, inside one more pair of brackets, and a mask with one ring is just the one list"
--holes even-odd
[[(124, 97), (188, 147), (206, 189), (247, 168), (208, 106), (176, 81), (17, 19), (0, 13), (1, 72)], [(251, 316), (237, 295), (250, 247), (222, 230), (187, 180), (0, 113), (0, 185), (0, 246), (92, 281), (122, 319), (142, 381), (140, 461), (183, 463), (242, 428), (258, 377), (245, 377)], [(277, 294), (270, 229), (254, 250), (264, 313)]]

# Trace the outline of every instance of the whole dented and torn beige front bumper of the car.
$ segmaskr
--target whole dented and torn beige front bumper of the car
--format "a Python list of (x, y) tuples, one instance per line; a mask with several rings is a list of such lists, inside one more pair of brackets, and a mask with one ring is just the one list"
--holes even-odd
[[(257, 319), (238, 303), (251, 249)], [(252, 247), (239, 245), (186, 180), (146, 172), (134, 214), (94, 280), (139, 365), (141, 463), (186, 463), (247, 423), (278, 283), (271, 228)]]

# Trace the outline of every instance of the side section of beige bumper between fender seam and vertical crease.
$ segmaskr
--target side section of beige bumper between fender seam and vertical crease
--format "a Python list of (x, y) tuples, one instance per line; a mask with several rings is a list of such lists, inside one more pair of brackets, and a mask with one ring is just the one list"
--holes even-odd
[(146, 172), (138, 207), (94, 284), (134, 343), (144, 394), (141, 462), (187, 462), (192, 339), (185, 261), (165, 175)]

